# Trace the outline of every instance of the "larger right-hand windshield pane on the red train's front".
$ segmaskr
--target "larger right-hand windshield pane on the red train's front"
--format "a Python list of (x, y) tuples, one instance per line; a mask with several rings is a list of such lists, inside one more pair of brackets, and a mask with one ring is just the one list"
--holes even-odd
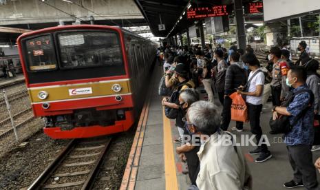
[(64, 69), (124, 66), (116, 32), (77, 31), (58, 33), (57, 36), (60, 65)]

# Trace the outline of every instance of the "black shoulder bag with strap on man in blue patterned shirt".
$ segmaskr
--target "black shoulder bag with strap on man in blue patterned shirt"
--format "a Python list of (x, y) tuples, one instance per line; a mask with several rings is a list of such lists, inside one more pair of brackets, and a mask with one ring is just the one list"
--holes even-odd
[(295, 96), (304, 92), (308, 92), (308, 94), (310, 95), (309, 106), (306, 107), (306, 109), (303, 109), (303, 111), (297, 117), (295, 117), (295, 120), (293, 121), (292, 125), (290, 125), (289, 121), (290, 116), (281, 115), (276, 120), (273, 120), (273, 116), (271, 116), (269, 125), (272, 134), (288, 134), (292, 130), (292, 127), (298, 122), (298, 120), (306, 114), (307, 110), (310, 108), (314, 101), (314, 96), (310, 89), (301, 89), (298, 92), (295, 92), (295, 94), (290, 94), (291, 96), (289, 95), (288, 100), (285, 101), (281, 106), (288, 107), (288, 105), (293, 101)]

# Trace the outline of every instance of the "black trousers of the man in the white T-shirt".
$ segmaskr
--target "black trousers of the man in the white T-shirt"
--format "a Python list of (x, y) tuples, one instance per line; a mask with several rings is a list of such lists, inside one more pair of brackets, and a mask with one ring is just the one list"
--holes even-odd
[[(250, 120), (251, 133), (255, 135), (255, 139), (257, 140), (258, 145), (260, 139), (262, 138), (262, 129), (260, 126), (260, 114), (262, 111), (262, 104), (253, 105), (250, 103), (246, 103), (246, 106), (248, 107), (248, 117)], [(266, 144), (262, 143), (262, 145), (258, 145), (258, 148), (265, 153), (268, 152), (268, 147)]]

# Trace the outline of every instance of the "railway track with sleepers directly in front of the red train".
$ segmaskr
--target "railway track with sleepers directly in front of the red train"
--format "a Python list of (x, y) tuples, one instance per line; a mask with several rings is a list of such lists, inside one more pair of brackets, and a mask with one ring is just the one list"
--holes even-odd
[(111, 140), (111, 137), (71, 140), (28, 190), (91, 189)]

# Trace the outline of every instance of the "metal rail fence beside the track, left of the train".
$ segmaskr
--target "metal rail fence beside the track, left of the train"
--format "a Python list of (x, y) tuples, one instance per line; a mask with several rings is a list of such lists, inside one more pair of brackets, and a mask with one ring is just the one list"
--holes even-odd
[[(7, 103), (5, 96), (8, 98)], [(10, 87), (6, 89), (5, 94), (3, 89), (0, 89), (0, 156), (6, 154), (25, 138), (32, 136), (43, 126), (41, 118), (34, 118), (25, 85)]]

